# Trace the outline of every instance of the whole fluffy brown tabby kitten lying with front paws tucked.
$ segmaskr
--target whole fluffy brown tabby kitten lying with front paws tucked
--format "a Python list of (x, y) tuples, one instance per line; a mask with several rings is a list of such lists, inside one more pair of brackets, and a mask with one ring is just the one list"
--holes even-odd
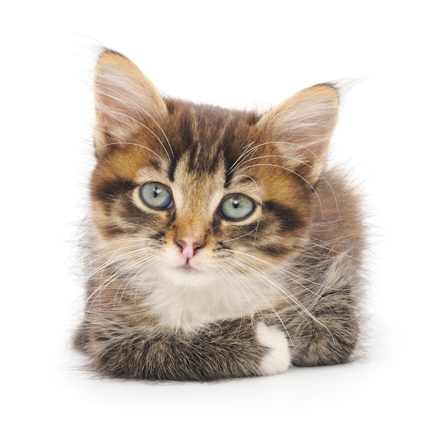
[(266, 112), (163, 98), (104, 51), (85, 318), (101, 374), (209, 381), (350, 360), (363, 225), (325, 168), (332, 84)]

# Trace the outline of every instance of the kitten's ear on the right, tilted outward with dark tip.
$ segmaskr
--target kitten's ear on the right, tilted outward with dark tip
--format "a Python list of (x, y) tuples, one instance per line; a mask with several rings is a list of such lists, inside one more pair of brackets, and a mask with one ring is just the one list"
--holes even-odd
[(339, 97), (330, 84), (307, 88), (266, 113), (258, 122), (271, 134), (282, 155), (311, 185), (323, 171), (323, 162), (338, 118)]

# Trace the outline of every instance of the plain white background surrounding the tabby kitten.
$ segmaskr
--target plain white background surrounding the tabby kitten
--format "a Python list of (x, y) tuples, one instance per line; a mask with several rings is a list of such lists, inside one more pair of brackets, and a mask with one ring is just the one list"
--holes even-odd
[[(0, 11), (2, 425), (438, 425), (433, 1), (11, 4)], [(102, 45), (163, 93), (226, 107), (265, 108), (358, 79), (332, 157), (368, 195), (366, 360), (213, 384), (109, 381), (76, 368), (76, 240)]]

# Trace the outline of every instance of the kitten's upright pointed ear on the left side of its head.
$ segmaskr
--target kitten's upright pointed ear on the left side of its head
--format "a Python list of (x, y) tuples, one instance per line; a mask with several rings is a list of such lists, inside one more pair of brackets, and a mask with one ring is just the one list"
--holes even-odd
[(95, 145), (127, 138), (149, 119), (167, 114), (166, 104), (151, 82), (125, 56), (105, 51), (95, 71)]

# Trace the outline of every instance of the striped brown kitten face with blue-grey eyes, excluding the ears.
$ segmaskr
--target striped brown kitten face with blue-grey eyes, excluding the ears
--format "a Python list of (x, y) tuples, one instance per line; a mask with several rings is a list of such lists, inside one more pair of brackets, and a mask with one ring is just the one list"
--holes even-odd
[(126, 268), (177, 285), (280, 265), (301, 245), (313, 196), (295, 159), (265, 143), (255, 114), (175, 101), (168, 110), (98, 157), (101, 246)]

